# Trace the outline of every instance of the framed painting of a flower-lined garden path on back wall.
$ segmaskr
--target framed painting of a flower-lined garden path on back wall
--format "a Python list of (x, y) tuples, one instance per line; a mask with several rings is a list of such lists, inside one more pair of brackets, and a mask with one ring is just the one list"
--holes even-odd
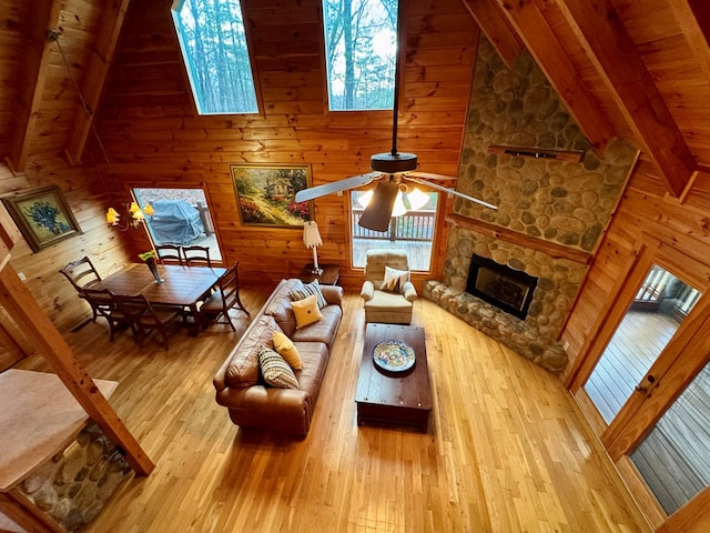
[(296, 202), (311, 187), (311, 165), (233, 164), (232, 180), (242, 225), (302, 228), (313, 202)]

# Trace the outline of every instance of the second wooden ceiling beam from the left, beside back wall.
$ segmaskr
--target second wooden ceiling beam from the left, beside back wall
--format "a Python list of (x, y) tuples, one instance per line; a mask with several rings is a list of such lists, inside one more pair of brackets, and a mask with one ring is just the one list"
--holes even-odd
[(95, 41), (91, 47), (91, 53), (83, 72), (83, 81), (79, 84), (79, 90), (83, 97), (83, 104), (87, 105), (91, 119), (87, 115), (83, 104), (78, 108), (73, 134), (69, 140), (68, 157), (72, 163), (81, 161), (87, 139), (92, 129), (92, 121), (95, 120), (95, 112), (103, 95), (103, 88), (109, 76), (111, 61), (115, 53), (121, 27), (125, 20), (130, 0), (118, 2), (106, 1), (106, 6), (101, 11), (101, 23), (95, 32)]

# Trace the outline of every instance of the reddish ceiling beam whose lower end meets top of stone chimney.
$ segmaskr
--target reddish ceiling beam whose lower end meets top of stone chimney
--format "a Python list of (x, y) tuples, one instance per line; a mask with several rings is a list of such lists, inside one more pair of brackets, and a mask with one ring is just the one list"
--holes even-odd
[(567, 104), (589, 142), (602, 151), (616, 137), (599, 101), (587, 89), (545, 16), (532, 0), (495, 0)]

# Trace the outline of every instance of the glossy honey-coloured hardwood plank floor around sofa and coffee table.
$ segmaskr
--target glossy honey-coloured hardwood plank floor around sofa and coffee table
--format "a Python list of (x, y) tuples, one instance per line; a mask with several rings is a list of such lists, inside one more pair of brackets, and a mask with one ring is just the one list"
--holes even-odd
[[(254, 312), (267, 290), (246, 288)], [(212, 376), (240, 331), (180, 332), (164, 351), (88, 324), (68, 341), (156, 463), (88, 533), (650, 531), (559, 380), (432, 302), (426, 330), (434, 409), (428, 433), (357, 426), (364, 312), (343, 324), (310, 434), (247, 434), (214, 401)], [(41, 358), (20, 368), (48, 370)]]

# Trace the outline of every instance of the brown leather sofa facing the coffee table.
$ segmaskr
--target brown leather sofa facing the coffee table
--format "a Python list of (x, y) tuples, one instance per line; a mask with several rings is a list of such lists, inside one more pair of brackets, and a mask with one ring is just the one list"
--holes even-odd
[[(300, 280), (281, 280), (226, 358), (213, 383), (216, 401), (227, 408), (242, 429), (265, 429), (305, 436), (331, 358), (331, 348), (343, 318), (343, 288), (321, 285), (328, 303), (323, 319), (296, 329), (290, 291)], [(274, 331), (285, 333), (297, 348), (303, 369), (294, 371), (298, 390), (267, 385), (258, 366), (258, 350), (273, 346)]]

